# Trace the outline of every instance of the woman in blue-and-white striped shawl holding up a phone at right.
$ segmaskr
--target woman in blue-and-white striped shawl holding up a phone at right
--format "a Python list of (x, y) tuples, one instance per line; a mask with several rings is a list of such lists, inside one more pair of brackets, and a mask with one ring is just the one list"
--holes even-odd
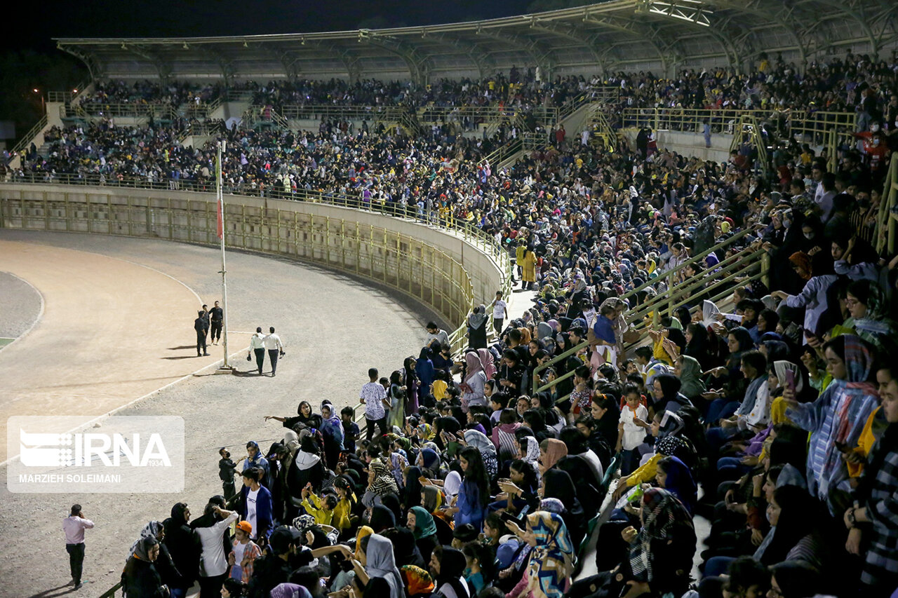
[(833, 514), (847, 506), (849, 472), (838, 446), (849, 449), (870, 414), (879, 392), (872, 383), (874, 355), (865, 341), (846, 334), (823, 345), (832, 383), (813, 403), (789, 401), (786, 416), (811, 433), (807, 452), (807, 487)]

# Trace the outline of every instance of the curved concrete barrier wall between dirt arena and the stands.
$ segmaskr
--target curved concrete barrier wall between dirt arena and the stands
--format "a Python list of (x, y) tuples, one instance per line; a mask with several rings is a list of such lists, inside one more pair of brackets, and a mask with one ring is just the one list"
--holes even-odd
[[(0, 185), (0, 225), (217, 245), (213, 193)], [(228, 247), (310, 260), (413, 296), (452, 326), (506, 273), (481, 239), (402, 218), (286, 199), (225, 196)]]

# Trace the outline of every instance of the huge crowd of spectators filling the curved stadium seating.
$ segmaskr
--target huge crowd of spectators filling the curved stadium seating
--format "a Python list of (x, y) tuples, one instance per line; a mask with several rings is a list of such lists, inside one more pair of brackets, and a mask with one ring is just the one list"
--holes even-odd
[[(838, 82), (862, 78), (836, 95), (871, 117), (859, 133), (882, 140), (882, 162), (845, 147), (836, 171), (795, 143), (776, 147), (764, 176), (750, 154), (703, 161), (647, 136), (608, 151), (556, 135), (494, 169), (483, 160), (489, 143), (442, 130), (227, 131), (229, 190), (316, 189), (468, 222), (514, 253), (535, 301), (510, 322), (498, 323), (507, 297), (473, 310), (461, 356), (428, 323), (416, 355), (389, 376), (368, 372), (364, 437), (353, 409), (330, 402), (266, 418), (283, 438), (265, 451), (248, 443), (242, 463), (223, 452), (226, 496), (193, 522), (178, 503), (148, 523), (125, 585), (182, 596), (197, 580), (204, 595), (224, 584), (222, 595), (276, 598), (678, 597), (692, 586), (715, 598), (892, 594), (898, 258), (878, 255), (864, 227), (882, 200), (898, 114), (883, 102), (894, 70), (846, 62), (832, 80), (829, 67), (810, 71), (826, 88), (785, 84), (792, 74), (774, 63), (763, 80), (686, 75), (654, 92), (694, 105), (710, 97), (699, 89), (717, 97), (725, 85), (719, 93), (744, 106), (757, 85), (759, 98), (790, 107), (792, 94), (829, 101)], [(369, 100), (397, 101), (376, 87)], [(628, 79), (621, 89), (647, 86)], [(49, 155), (26, 169), (207, 186), (214, 145), (181, 147), (175, 133), (110, 121), (57, 130)], [(674, 313), (629, 317), (670, 292), (671, 277), (694, 281), (746, 248), (770, 256), (768, 284), (737, 281), (727, 312), (699, 288)], [(683, 266), (692, 256), (701, 257)], [(628, 355), (643, 327), (649, 344)], [(533, 392), (534, 372), (540, 387), (555, 384)], [(600, 512), (599, 573), (571, 583)], [(697, 537), (697, 516), (708, 538)]]

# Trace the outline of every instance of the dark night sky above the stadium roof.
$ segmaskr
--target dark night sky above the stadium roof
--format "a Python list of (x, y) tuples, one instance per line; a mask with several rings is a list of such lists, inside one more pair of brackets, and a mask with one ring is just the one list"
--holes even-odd
[(374, 29), (511, 16), (530, 12), (530, 5), (530, 0), (48, 0), (40, 4), (40, 15), (7, 30), (0, 43), (7, 49), (48, 49), (57, 37), (339, 31), (358, 29), (363, 21)]

